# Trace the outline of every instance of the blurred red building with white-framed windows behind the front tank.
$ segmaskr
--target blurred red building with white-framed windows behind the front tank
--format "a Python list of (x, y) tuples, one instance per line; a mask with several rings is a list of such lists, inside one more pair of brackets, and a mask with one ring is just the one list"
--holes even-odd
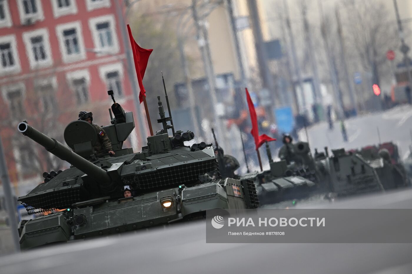
[(113, 0), (0, 1), (0, 113), (7, 118), (0, 133), (14, 156), (7, 158), (12, 181), (28, 179), (21, 169), (35, 164), (12, 142), (17, 123), (34, 119), (34, 102), (41, 113), (58, 109), (52, 119), (61, 123), (102, 109), (94, 122), (107, 124), (108, 90), (134, 110), (116, 7)]

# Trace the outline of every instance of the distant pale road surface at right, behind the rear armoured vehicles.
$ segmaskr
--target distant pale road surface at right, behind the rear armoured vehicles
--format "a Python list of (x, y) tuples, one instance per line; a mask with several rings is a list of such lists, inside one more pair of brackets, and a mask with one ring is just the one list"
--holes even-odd
[[(326, 122), (318, 123), (307, 128), (311, 150), (315, 148), (323, 151), (325, 146), (329, 149), (360, 149), (363, 146), (378, 144), (380, 134), (381, 142), (393, 141), (398, 144), (401, 158), (406, 158), (409, 146), (412, 144), (410, 130), (412, 129), (412, 107), (402, 105), (388, 111), (375, 112), (350, 118), (345, 121), (349, 142), (344, 142), (340, 122), (334, 123), (334, 128), (329, 130)], [(300, 140), (306, 140), (304, 130), (299, 132)]]

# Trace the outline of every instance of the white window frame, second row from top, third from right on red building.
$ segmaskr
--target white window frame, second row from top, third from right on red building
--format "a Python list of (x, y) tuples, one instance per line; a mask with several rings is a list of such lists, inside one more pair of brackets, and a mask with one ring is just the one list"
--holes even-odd
[[(31, 38), (36, 36), (43, 37), (44, 51), (46, 51), (45, 60), (36, 61), (34, 59)], [(33, 70), (36, 68), (50, 67), (51, 65), (53, 65), (52, 49), (50, 47), (49, 31), (47, 30), (47, 28), (39, 28), (37, 30), (23, 33), (23, 42), (26, 46), (26, 53), (29, 59), (30, 69)]]

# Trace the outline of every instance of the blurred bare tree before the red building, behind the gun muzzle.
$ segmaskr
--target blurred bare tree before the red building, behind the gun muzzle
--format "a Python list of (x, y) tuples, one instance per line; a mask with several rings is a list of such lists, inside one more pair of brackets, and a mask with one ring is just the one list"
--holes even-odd
[[(55, 68), (55, 67), (54, 67)], [(23, 81), (18, 103), (6, 102), (0, 109), (2, 133), (8, 132), (9, 146), (5, 147), (8, 162), (14, 162), (17, 174), (14, 179), (25, 179), (44, 171), (68, 167), (66, 162), (53, 156), (42, 146), (17, 132), (17, 124), (23, 120), (44, 134), (63, 142), (63, 131), (73, 116), (73, 95), (65, 81), (57, 83), (56, 72), (43, 75), (39, 70)], [(7, 100), (6, 100), (7, 101)], [(16, 106), (19, 106), (17, 109)]]

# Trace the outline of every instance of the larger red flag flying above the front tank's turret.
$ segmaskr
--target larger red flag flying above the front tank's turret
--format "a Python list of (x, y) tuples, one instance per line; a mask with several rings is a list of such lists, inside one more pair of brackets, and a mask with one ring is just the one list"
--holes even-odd
[(141, 103), (143, 102), (143, 96), (146, 97), (146, 91), (142, 80), (145, 76), (147, 62), (149, 61), (149, 56), (153, 49), (143, 49), (136, 43), (131, 34), (129, 24), (127, 25), (127, 30), (129, 31), (130, 44), (133, 51), (134, 66), (136, 67), (137, 81), (140, 88), (139, 101)]

